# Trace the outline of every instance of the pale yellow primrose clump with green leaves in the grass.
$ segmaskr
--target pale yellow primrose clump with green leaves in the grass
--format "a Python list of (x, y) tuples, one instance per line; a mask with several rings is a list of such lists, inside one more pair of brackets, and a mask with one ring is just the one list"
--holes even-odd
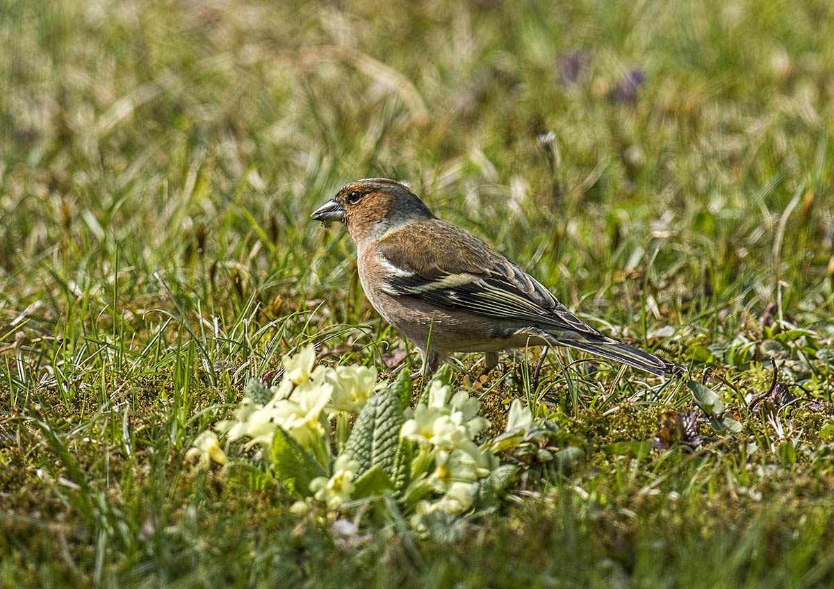
[[(226, 468), (249, 469), (249, 480), (278, 480), (298, 497), (294, 512), (387, 496), (419, 525), (434, 512), (455, 516), (494, 500), (515, 477), (515, 467), (500, 466), (496, 454), (523, 441), (533, 425), (517, 400), (508, 431), (486, 440), (490, 422), (477, 415), (480, 403), (453, 392), (448, 368), (412, 409), (406, 371), (389, 384), (377, 382), (373, 367), (317, 367), (312, 345), (282, 363), (277, 386), (249, 381), (234, 417), (214, 430), (227, 442), (244, 441), (244, 450), (259, 447)], [(202, 467), (226, 462), (215, 432), (200, 434), (188, 451)]]

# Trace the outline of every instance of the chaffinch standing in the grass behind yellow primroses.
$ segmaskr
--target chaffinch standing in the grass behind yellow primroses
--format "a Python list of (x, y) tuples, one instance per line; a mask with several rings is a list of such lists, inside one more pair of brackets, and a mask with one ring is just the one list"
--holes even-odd
[(657, 375), (683, 368), (582, 322), (534, 277), (435, 217), (404, 184), (350, 182), (312, 217), (348, 228), (365, 296), (414, 341), (425, 373), (450, 352), (486, 352), (489, 372), (500, 350), (530, 345), (575, 347)]

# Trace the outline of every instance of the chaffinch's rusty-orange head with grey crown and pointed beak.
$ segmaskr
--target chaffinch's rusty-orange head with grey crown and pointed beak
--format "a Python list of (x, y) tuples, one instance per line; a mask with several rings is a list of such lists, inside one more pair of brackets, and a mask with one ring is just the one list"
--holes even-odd
[(317, 208), (312, 217), (321, 222), (343, 222), (350, 237), (359, 242), (434, 215), (404, 184), (387, 178), (365, 178), (347, 184), (332, 200)]

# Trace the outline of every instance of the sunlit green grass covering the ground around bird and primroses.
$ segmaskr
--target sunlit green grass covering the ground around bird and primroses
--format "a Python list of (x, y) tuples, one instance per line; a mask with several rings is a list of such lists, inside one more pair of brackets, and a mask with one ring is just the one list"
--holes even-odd
[[(3, 2), (0, 585), (830, 587), (831, 30), (813, 0)], [(370, 176), (689, 362), (742, 432), (628, 456), (690, 392), (560, 352), (482, 407), (539, 397), (585, 458), (452, 527), (345, 539), (196, 472), (284, 353), (405, 345), (309, 221)], [(769, 354), (816, 405), (748, 406)]]

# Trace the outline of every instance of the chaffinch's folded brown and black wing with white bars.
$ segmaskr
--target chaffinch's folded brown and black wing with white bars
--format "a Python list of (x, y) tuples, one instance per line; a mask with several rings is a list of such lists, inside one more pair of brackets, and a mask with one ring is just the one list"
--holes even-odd
[(383, 290), (508, 321), (600, 335), (540, 282), (476, 237), (434, 219), (414, 223), (376, 244), (388, 276)]

